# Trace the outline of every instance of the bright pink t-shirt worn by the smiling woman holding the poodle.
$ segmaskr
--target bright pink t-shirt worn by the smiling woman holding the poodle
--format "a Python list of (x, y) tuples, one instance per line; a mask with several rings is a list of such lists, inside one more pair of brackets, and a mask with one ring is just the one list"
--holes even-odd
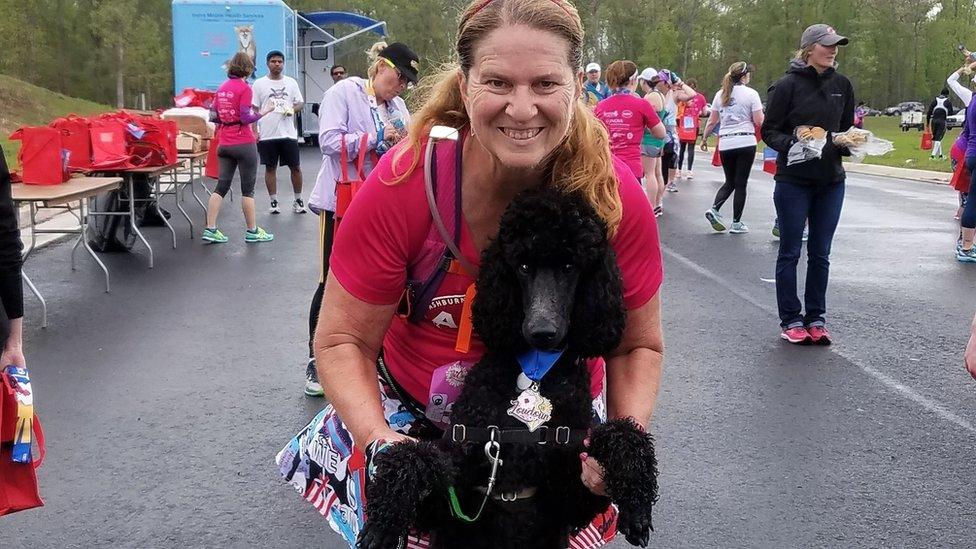
[[(394, 155), (391, 151), (382, 156), (356, 194), (336, 235), (330, 262), (339, 284), (356, 298), (372, 304), (389, 305), (400, 300), (408, 265), (419, 256), (432, 223), (422, 160), (405, 181), (396, 185), (383, 183), (393, 179)], [(403, 166), (409, 157), (408, 154), (401, 159)], [(614, 169), (620, 181), (623, 221), (612, 245), (623, 275), (624, 305), (636, 309), (654, 297), (663, 278), (657, 223), (644, 191), (627, 166), (615, 159)], [(464, 222), (460, 249), (473, 264), (479, 263)], [(394, 318), (383, 339), (391, 374), (418, 402), (428, 404), (428, 414), (434, 371), (458, 362), (474, 364), (484, 353), (484, 344), (477, 334), (472, 338), (470, 352), (455, 351), (465, 290), (473, 282), (467, 275), (447, 274), (424, 319), (411, 323)], [(602, 388), (602, 366), (602, 361), (591, 365), (594, 396)]]

